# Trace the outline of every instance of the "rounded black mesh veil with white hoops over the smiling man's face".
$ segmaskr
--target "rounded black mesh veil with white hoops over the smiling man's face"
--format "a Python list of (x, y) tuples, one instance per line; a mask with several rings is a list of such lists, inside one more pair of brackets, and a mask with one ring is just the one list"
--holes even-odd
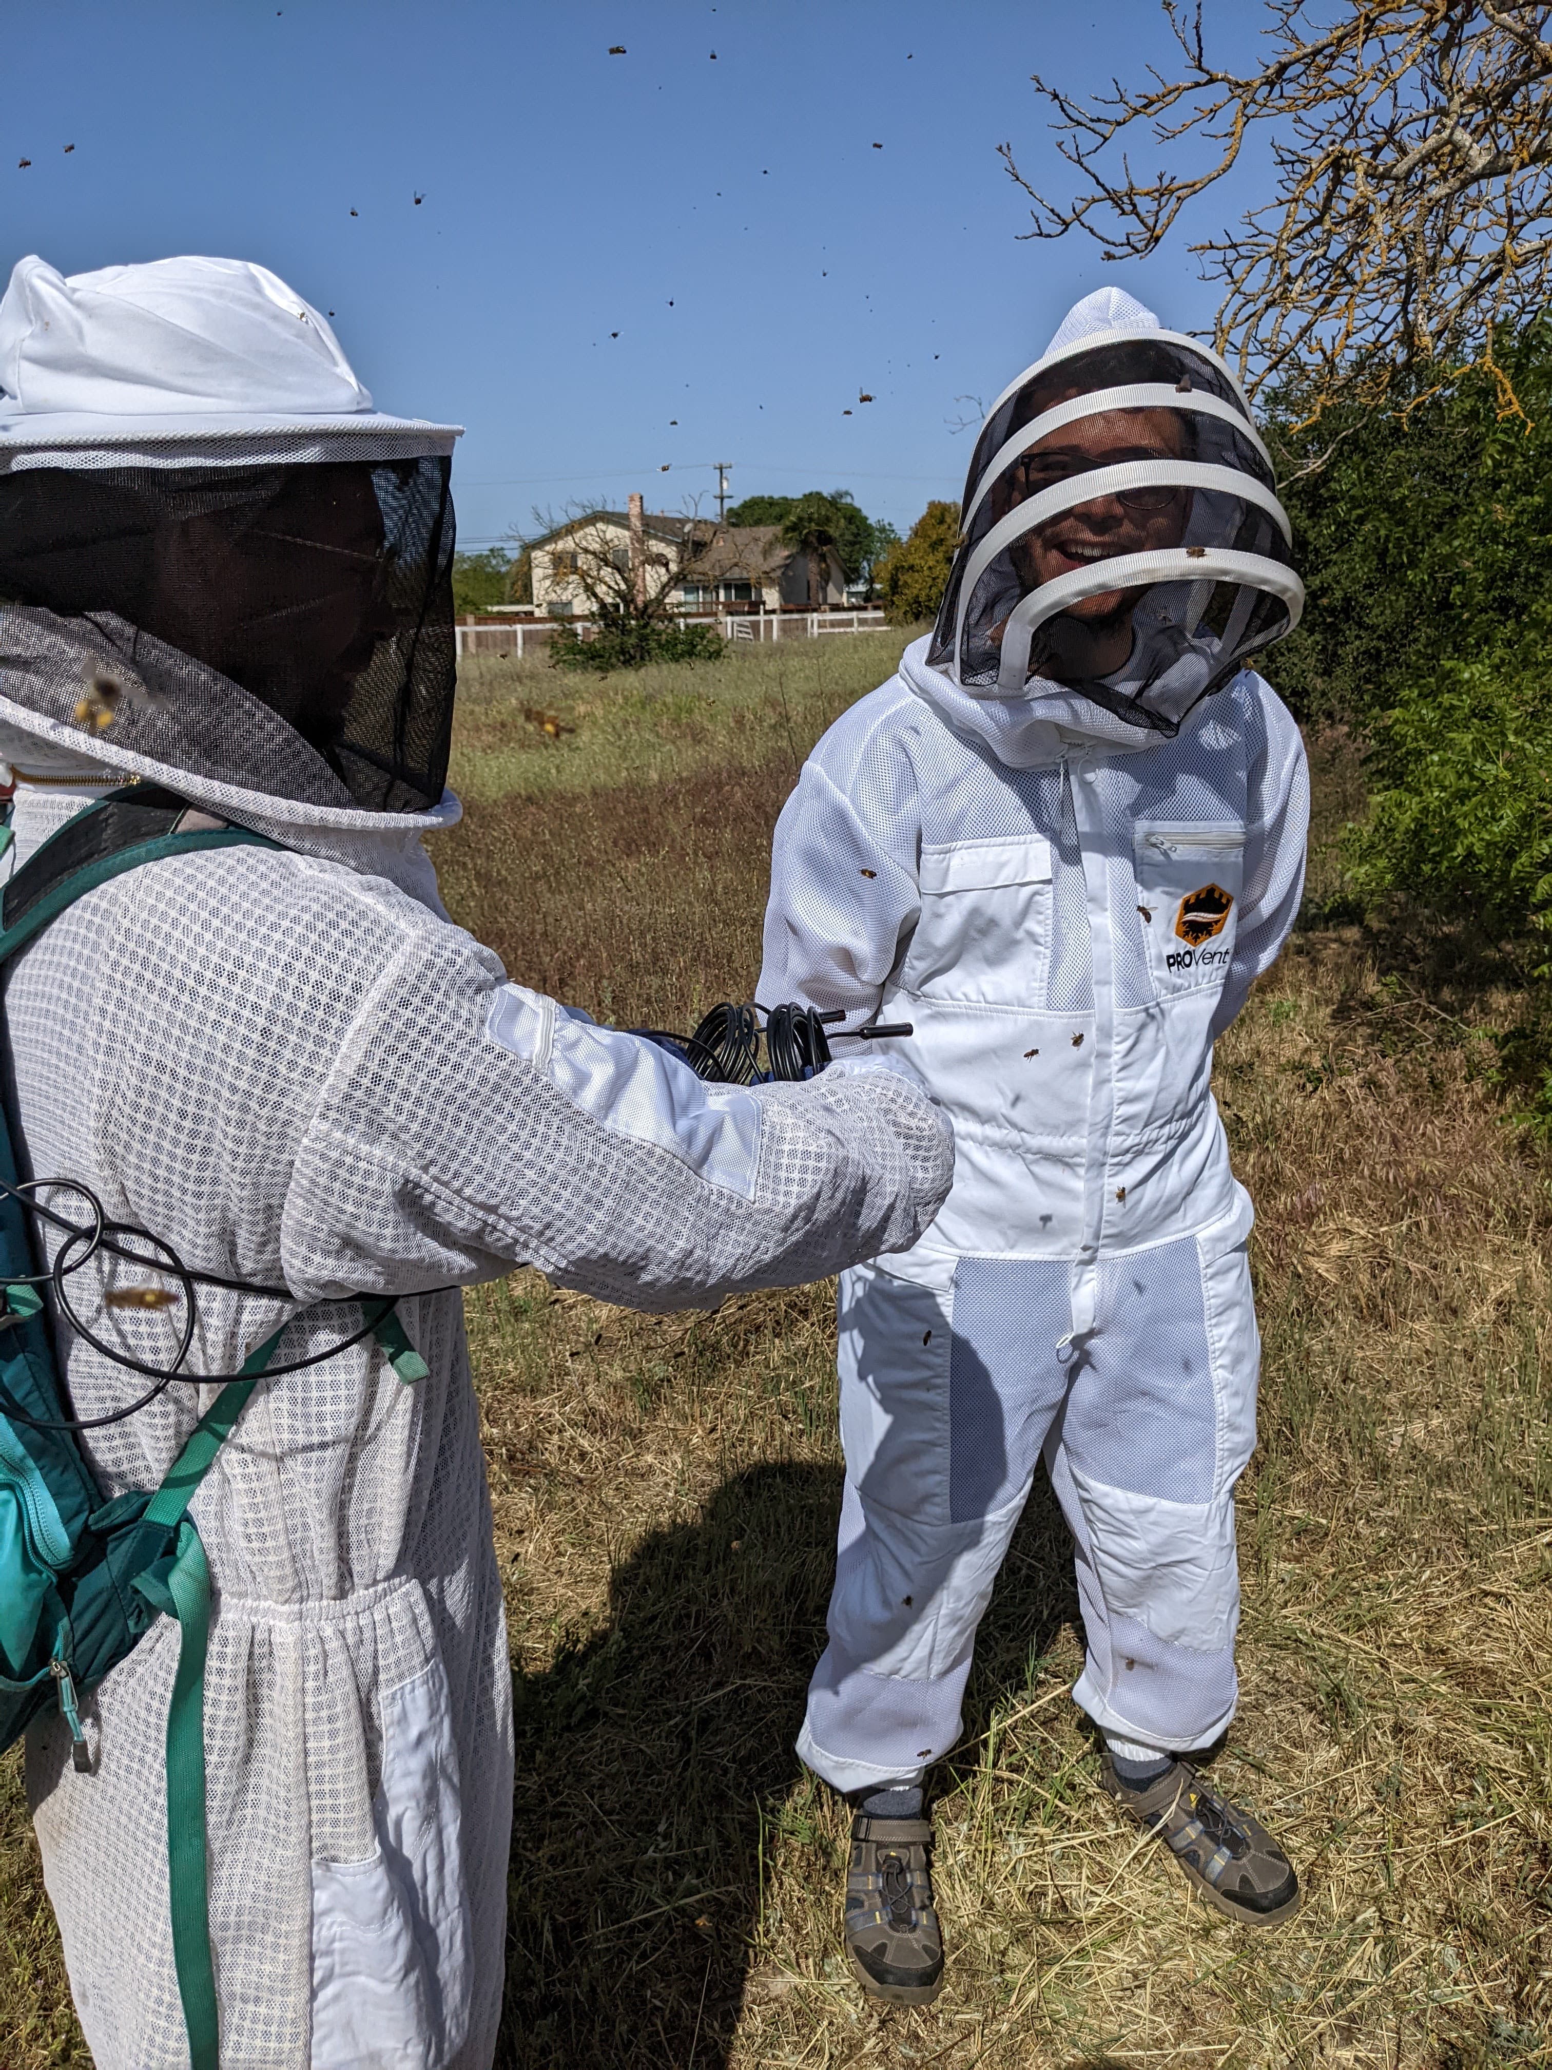
[(929, 660), (971, 693), (1078, 689), (1175, 733), (1302, 607), (1271, 460), (1227, 368), (1169, 331), (1101, 333), (987, 416)]

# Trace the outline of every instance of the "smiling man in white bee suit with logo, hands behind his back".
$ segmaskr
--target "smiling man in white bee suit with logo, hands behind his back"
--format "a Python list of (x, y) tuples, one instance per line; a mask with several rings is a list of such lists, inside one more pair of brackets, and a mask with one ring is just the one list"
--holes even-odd
[(908, 1021), (956, 1130), (927, 1236), (842, 1277), (840, 1559), (799, 1739), (859, 1805), (846, 1944), (879, 1995), (939, 1987), (921, 1778), (1041, 1451), (1107, 1786), (1229, 1917), (1297, 1902), (1175, 1755), (1237, 1691), (1258, 1339), (1208, 1074), (1304, 882), (1300, 735), (1244, 667), (1300, 604), (1227, 368), (1093, 294), (987, 416), (937, 629), (776, 830), (759, 996)]

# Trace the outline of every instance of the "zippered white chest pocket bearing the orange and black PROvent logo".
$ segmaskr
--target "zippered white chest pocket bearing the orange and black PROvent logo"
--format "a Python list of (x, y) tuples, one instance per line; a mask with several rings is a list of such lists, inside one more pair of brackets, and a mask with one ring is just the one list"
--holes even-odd
[(1138, 826), (1138, 917), (1157, 998), (1221, 989), (1244, 874), (1244, 826)]

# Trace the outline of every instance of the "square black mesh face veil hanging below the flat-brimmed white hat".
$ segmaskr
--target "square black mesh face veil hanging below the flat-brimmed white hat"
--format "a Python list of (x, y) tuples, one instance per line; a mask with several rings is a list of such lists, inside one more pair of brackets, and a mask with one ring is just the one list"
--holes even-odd
[(449, 472), (25, 468), (0, 476), (0, 598), (126, 621), (267, 704), (354, 803), (424, 811), (453, 724)]

